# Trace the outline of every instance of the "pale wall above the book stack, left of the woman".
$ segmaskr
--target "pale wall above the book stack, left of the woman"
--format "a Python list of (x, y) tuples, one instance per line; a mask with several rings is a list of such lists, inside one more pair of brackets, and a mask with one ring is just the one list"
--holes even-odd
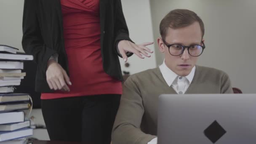
[(24, 0), (0, 0), (0, 45), (11, 45), (24, 52), (21, 45)]

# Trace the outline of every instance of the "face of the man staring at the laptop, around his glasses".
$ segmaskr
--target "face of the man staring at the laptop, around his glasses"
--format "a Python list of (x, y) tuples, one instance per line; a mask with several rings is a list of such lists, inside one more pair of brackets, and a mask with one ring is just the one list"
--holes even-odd
[[(204, 41), (204, 40), (203, 40)], [(159, 37), (157, 39), (159, 49), (165, 55), (165, 64), (169, 69), (175, 72), (179, 76), (187, 76), (195, 66), (198, 57), (191, 56), (188, 53), (187, 48), (180, 56), (172, 56), (169, 53), (168, 47), (163, 40)], [(195, 22), (187, 27), (178, 29), (172, 29), (169, 27), (167, 35), (165, 37), (167, 45), (181, 44), (184, 46), (190, 45), (203, 45), (202, 32), (198, 22)]]

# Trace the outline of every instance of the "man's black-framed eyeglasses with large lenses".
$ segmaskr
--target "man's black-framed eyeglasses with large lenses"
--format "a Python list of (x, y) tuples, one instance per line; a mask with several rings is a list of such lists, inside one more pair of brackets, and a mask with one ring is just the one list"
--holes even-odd
[(187, 48), (190, 56), (200, 56), (203, 53), (203, 50), (205, 49), (205, 44), (203, 45), (190, 45), (190, 46), (184, 46), (181, 44), (168, 44), (165, 42), (165, 40), (162, 38), (163, 43), (168, 47), (169, 53), (172, 56), (180, 56)]

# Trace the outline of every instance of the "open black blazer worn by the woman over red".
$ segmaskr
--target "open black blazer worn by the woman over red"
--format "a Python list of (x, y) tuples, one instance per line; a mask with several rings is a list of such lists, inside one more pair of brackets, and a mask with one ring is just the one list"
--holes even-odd
[[(48, 59), (58, 53), (58, 63), (69, 75), (64, 48), (60, 0), (24, 0), (22, 46), (37, 63), (35, 90), (52, 92), (46, 81)], [(122, 81), (117, 42), (130, 40), (121, 0), (100, 0), (101, 56), (104, 71)], [(119, 55), (120, 56), (120, 55)]]

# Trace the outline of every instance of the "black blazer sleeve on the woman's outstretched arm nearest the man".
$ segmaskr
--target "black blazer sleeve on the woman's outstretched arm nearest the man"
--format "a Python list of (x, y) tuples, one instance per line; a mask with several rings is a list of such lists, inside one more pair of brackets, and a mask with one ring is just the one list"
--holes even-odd
[[(129, 31), (128, 27), (125, 21), (125, 17), (123, 15), (123, 8), (121, 0), (115, 0), (115, 27), (114, 27), (114, 36), (115, 36), (115, 51), (117, 51), (117, 43), (120, 40), (129, 40), (133, 42), (129, 37)], [(118, 53), (118, 56), (122, 57), (120, 53)], [(132, 56), (133, 53), (126, 53), (126, 55)]]

